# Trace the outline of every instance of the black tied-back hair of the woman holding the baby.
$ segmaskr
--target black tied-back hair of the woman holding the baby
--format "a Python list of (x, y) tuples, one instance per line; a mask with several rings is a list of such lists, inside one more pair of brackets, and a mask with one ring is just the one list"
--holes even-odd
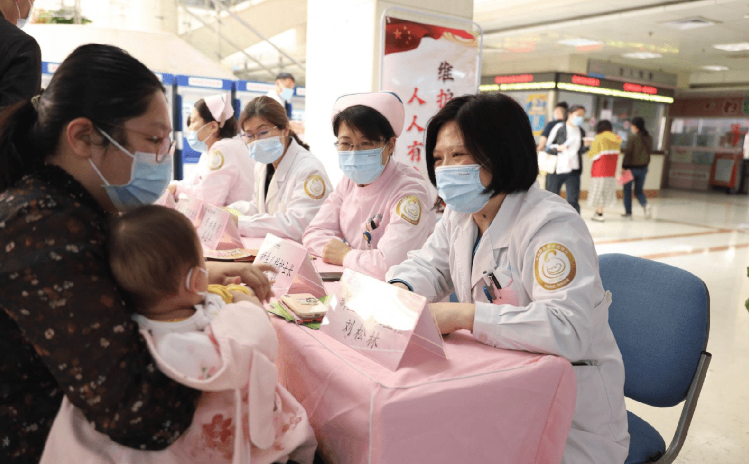
[(156, 75), (126, 51), (100, 44), (76, 48), (41, 97), (0, 110), (0, 192), (44, 164), (76, 118), (90, 119), (124, 145), (120, 126), (145, 113), (158, 91), (164, 86)]

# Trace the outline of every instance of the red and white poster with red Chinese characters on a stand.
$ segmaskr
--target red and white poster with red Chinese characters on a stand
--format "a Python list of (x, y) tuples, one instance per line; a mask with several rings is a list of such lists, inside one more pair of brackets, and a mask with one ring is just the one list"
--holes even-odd
[(452, 98), (478, 92), (481, 33), (473, 29), (480, 29), (454, 29), (391, 16), (385, 17), (384, 27), (380, 89), (398, 94), (406, 110), (394, 156), (427, 178), (424, 143), (429, 119)]

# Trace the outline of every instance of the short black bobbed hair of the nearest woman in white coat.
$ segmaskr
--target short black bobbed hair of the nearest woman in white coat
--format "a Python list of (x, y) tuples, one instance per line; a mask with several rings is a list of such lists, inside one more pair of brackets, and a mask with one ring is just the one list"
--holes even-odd
[(538, 155), (528, 115), (513, 98), (492, 92), (453, 98), (429, 121), (425, 148), (432, 184), (437, 185), (437, 135), (450, 121), (458, 124), (466, 150), (476, 163), (491, 173), (487, 190), (494, 195), (524, 192), (536, 182)]

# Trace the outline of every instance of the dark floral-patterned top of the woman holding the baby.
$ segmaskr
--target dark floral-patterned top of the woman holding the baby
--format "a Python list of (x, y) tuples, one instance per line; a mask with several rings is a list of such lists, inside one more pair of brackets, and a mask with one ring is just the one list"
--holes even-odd
[(39, 460), (63, 394), (133, 448), (163, 449), (192, 421), (200, 392), (156, 368), (111, 275), (109, 220), (55, 166), (0, 194), (2, 463)]

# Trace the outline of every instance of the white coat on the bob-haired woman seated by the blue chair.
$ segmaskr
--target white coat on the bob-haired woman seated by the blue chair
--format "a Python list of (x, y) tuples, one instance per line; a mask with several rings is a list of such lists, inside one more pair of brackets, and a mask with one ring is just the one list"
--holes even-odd
[[(452, 291), (460, 302), (475, 302), (473, 335), (482, 343), (570, 360), (577, 403), (562, 462), (623, 463), (629, 452), (624, 365), (608, 325), (611, 295), (585, 222), (562, 198), (534, 185), (505, 198), (474, 258), (477, 237), (471, 215), (448, 207), (424, 247), (386, 279), (407, 282), (430, 302)], [(494, 272), (503, 289), (495, 304), (484, 296), (484, 271)]]

